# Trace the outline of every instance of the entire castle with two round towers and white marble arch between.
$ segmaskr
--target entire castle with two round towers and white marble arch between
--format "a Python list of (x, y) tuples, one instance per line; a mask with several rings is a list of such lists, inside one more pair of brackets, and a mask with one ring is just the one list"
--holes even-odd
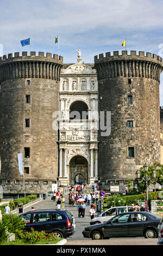
[(95, 56), (95, 64), (84, 64), (77, 51), (76, 64), (63, 64), (61, 56), (45, 57), (43, 52), (1, 57), (4, 193), (22, 193), (18, 153), (23, 153), (27, 194), (51, 191), (53, 183), (79, 181), (101, 184), (108, 191), (119, 184), (123, 191), (143, 164), (162, 161), (162, 59), (115, 51)]

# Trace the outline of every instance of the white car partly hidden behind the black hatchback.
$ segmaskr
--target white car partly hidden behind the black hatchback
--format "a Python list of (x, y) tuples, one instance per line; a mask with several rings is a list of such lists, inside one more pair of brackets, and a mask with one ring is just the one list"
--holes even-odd
[(104, 223), (106, 221), (109, 221), (110, 218), (114, 217), (117, 214), (122, 214), (123, 212), (129, 212), (133, 210), (134, 210), (134, 207), (132, 206), (117, 206), (117, 207), (109, 208), (108, 210), (98, 215), (97, 218), (93, 218), (90, 221), (90, 225)]

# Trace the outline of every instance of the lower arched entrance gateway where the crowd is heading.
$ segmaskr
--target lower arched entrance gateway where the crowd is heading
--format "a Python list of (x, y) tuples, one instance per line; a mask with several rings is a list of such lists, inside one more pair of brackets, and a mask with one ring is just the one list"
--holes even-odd
[(70, 184), (88, 183), (88, 162), (84, 156), (74, 156), (70, 161)]

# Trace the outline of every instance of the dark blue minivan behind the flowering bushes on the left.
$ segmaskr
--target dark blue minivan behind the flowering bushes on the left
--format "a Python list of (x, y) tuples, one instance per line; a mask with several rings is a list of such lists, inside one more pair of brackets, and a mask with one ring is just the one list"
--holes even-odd
[(33, 227), (37, 231), (55, 232), (58, 237), (68, 237), (74, 233), (74, 221), (70, 212), (64, 209), (43, 209), (21, 214), (26, 222), (26, 231)]

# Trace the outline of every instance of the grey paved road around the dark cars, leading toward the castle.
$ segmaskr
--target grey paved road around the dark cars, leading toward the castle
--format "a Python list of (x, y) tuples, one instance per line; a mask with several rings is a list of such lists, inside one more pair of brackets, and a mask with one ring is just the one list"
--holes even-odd
[[(145, 239), (144, 237), (130, 237), (130, 238), (111, 238), (104, 240), (91, 240), (83, 237), (82, 231), (85, 227), (90, 225), (90, 206), (86, 206), (84, 218), (78, 218), (78, 211), (76, 206), (68, 205), (68, 196), (65, 196), (65, 209), (73, 212), (76, 220), (76, 229), (72, 237), (67, 237), (66, 245), (157, 245), (158, 239)], [(39, 209), (57, 209), (56, 203), (51, 199), (42, 200), (34, 205), (35, 210)], [(31, 206), (26, 208), (26, 212), (31, 210)], [(96, 214), (97, 215), (97, 214)]]

